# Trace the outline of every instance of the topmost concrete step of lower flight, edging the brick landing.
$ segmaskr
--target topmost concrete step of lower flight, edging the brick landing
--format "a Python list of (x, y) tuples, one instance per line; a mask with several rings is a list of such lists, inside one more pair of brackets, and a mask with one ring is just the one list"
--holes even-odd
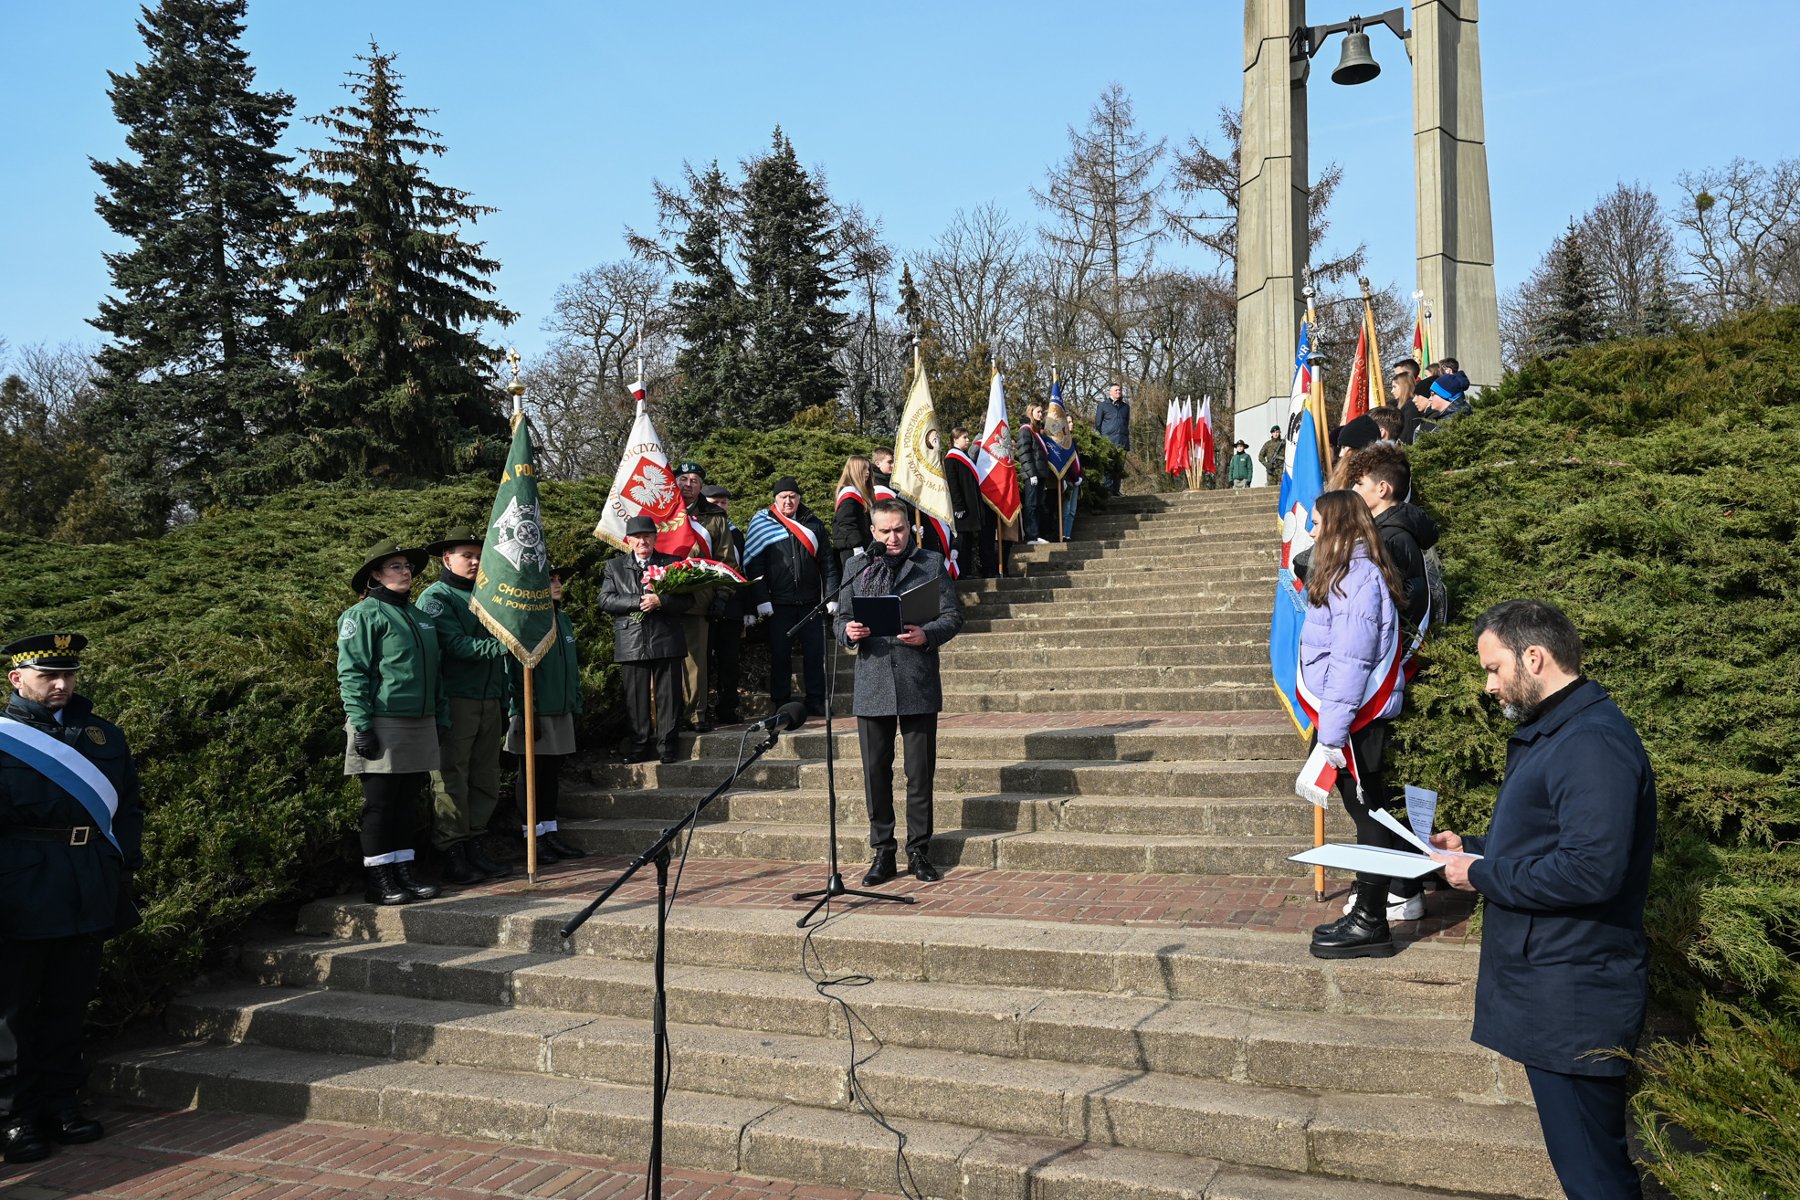
[[(400, 909), (337, 898), (304, 905), (297, 932), (410, 948), (650, 961), (653, 903), (601, 907), (565, 941), (562, 925), (581, 907), (580, 900), (535, 894), (441, 896)], [(668, 963), (792, 972), (796, 916), (787, 909), (679, 903), (670, 914)], [(812, 945), (835, 973), (882, 981), (1465, 1020), (1472, 1015), (1478, 957), (1474, 945), (1418, 941), (1391, 959), (1330, 963), (1314, 959), (1303, 937), (1282, 934), (961, 919), (889, 909), (857, 909), (855, 919), (815, 930)]]

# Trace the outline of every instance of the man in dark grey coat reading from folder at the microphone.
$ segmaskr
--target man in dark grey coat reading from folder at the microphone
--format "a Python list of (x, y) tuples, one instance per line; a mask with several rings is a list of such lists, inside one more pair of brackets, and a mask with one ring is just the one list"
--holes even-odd
[[(913, 542), (905, 506), (878, 500), (869, 509), (884, 554), (844, 579), (837, 604), (837, 640), (857, 651), (857, 739), (862, 745), (862, 799), (869, 810), (869, 873), (864, 887), (895, 878), (895, 734), (905, 747), (905, 855), (922, 883), (938, 880), (931, 865), (932, 775), (938, 772), (938, 711), (943, 680), (938, 648), (963, 628), (956, 581), (943, 556)], [(877, 635), (855, 619), (853, 597), (900, 596), (916, 587), (938, 590), (938, 615), (905, 624), (898, 635)]]

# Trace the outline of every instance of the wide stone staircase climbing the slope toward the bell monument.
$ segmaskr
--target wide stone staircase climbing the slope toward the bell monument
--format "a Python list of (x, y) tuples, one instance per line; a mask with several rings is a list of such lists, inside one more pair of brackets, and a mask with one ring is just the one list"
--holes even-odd
[[(925, 1196), (1561, 1195), (1523, 1072), (1469, 1042), (1465, 939), (1321, 963), (1303, 934), (1156, 907), (1289, 887), (1291, 925), (1325, 918), (1285, 862), (1310, 810), (1267, 684), (1269, 507), (1265, 491), (1127, 498), (1080, 542), (1022, 551), (1013, 578), (965, 585), (936, 781), (947, 878), (893, 885), (916, 909), (837, 903), (805, 937), (803, 907), (779, 903), (823, 882), (823, 727), (783, 736), (707, 810), (671, 916), (668, 1162), (898, 1191), (866, 1103), (905, 1133)], [(853, 885), (868, 851), (844, 725)], [(592, 765), (567, 835), (635, 853), (738, 741)], [(99, 1074), (140, 1103), (643, 1159), (653, 892), (634, 880), (565, 943), (619, 860), (583, 867), (405, 909), (313, 903), (297, 936), (245, 948), (230, 986), (171, 1006), (164, 1045)], [(1024, 898), (1071, 883), (1127, 907), (1031, 916)], [(1116, 918), (1134, 898), (1145, 916)], [(869, 982), (821, 991), (824, 975)], [(855, 1081), (851, 1018), (828, 997), (853, 1013)]]

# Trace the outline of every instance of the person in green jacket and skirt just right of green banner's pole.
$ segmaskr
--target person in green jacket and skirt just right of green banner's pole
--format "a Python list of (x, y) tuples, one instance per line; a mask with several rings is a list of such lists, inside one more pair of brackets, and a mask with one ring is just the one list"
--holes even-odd
[[(576, 660), (574, 624), (563, 612), (563, 578), (569, 572), (551, 567), (551, 603), (556, 604), (556, 644), (531, 669), (531, 720), (536, 729), (533, 759), (536, 766), (538, 804), (536, 829), (524, 833), (538, 838), (538, 862), (587, 858), (580, 846), (565, 842), (558, 833), (556, 808), (562, 795), (563, 761), (574, 754), (574, 718), (581, 714), (581, 664)], [(508, 655), (506, 673), (511, 676), (511, 711), (508, 716), (506, 752), (518, 757), (518, 817), (526, 815), (526, 667)]]

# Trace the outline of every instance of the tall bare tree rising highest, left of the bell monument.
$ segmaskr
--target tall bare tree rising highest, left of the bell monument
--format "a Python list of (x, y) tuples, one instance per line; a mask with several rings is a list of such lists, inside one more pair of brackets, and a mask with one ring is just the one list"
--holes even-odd
[(1048, 277), (1058, 286), (1049, 295), (1096, 322), (1107, 353), (1102, 363), (1091, 354), (1071, 363), (1076, 403), (1096, 392), (1105, 376), (1125, 378), (1138, 367), (1125, 362), (1125, 340), (1136, 317), (1132, 297), (1168, 232), (1156, 171), (1165, 149), (1165, 139), (1152, 142), (1138, 128), (1125, 88), (1111, 83), (1087, 128), (1069, 130), (1069, 157), (1049, 169), (1042, 191), (1031, 193), (1049, 214), (1042, 236), (1058, 261)]

